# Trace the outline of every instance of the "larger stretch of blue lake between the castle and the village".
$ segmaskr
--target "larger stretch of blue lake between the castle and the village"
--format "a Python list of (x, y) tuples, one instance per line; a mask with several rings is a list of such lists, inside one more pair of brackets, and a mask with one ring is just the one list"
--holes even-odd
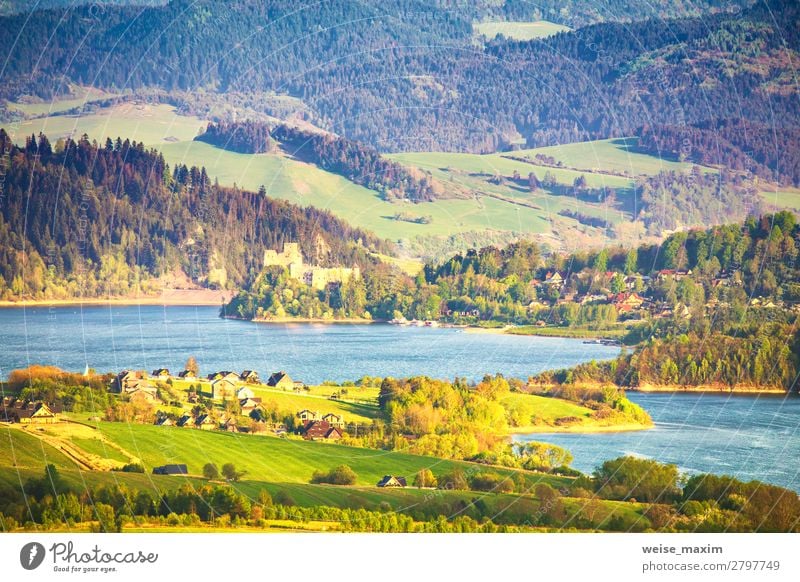
[(0, 376), (31, 364), (82, 372), (124, 368), (201, 373), (286, 370), (297, 380), (428, 375), (527, 378), (609, 359), (618, 348), (576, 339), (466, 333), (387, 324), (264, 324), (220, 319), (217, 307), (90, 306), (0, 309)]

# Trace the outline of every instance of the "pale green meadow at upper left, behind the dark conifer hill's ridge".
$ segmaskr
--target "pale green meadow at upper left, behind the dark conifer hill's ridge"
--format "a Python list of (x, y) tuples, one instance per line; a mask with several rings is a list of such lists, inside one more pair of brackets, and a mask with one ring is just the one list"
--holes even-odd
[(192, 140), (205, 126), (206, 122), (201, 119), (177, 114), (171, 105), (123, 103), (80, 117), (51, 115), (23, 121), (14, 135), (17, 143), (24, 143), (26, 136), (41, 132), (51, 141), (67, 136), (80, 137), (85, 133), (98, 143), (105, 142), (108, 137), (121, 137), (157, 146)]

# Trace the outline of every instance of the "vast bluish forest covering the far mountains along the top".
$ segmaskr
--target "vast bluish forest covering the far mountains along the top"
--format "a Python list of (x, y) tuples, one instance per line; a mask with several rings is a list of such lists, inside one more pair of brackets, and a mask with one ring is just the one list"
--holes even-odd
[[(506, 3), (509, 17), (524, 12), (517, 4)], [(610, 11), (622, 6), (609, 2)], [(475, 12), (440, 8), (176, 0), (106, 7), (100, 17), (90, 8), (8, 16), (0, 21), (1, 93), (51, 98), (67, 82), (234, 97), (271, 91), (302, 100), (325, 129), (381, 151), (485, 152), (520, 139), (575, 142), (709, 120), (771, 126), (774, 114), (784, 126), (800, 124), (785, 55), (800, 45), (791, 0), (478, 46)], [(52, 31), (44, 51), (41, 30)]]

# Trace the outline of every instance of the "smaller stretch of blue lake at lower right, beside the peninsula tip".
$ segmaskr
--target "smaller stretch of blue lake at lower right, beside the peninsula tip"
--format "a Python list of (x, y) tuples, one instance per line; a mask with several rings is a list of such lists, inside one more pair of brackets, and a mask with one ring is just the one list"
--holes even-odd
[(520, 435), (518, 440), (569, 449), (573, 466), (591, 472), (603, 461), (634, 455), (675, 463), (686, 473), (733, 475), (800, 491), (800, 397), (645, 394), (628, 397), (655, 428), (599, 434)]

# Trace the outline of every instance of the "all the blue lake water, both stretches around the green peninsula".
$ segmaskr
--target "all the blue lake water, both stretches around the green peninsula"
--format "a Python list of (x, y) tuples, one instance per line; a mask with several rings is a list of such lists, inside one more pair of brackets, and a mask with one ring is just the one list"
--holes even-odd
[[(267, 325), (217, 317), (216, 307), (91, 306), (0, 309), (0, 376), (31, 364), (72, 371), (167, 367), (194, 355), (201, 372), (286, 370), (309, 383), (369, 376), (478, 380), (612, 358), (580, 340), (389, 325)], [(653, 417), (648, 431), (531, 435), (570, 449), (591, 471), (623, 454), (800, 490), (800, 398), (700, 394), (630, 397)]]

